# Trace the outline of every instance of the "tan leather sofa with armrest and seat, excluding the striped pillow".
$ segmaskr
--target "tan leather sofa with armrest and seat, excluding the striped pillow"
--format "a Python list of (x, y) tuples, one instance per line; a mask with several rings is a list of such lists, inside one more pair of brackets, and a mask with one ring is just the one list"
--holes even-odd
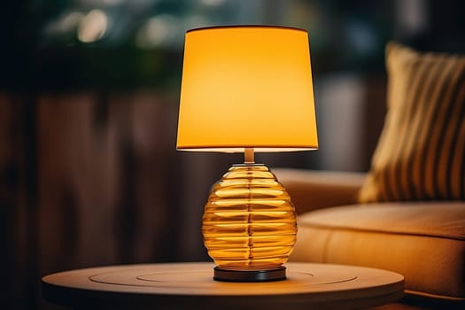
[(298, 213), (291, 261), (378, 267), (405, 298), (377, 309), (465, 309), (465, 202), (357, 204), (365, 174), (274, 169)]

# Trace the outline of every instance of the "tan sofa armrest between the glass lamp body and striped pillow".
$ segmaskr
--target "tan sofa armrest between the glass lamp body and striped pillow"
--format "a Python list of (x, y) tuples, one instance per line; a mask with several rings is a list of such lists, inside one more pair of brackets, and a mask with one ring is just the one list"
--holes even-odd
[(365, 173), (274, 168), (291, 195), (298, 214), (335, 205), (357, 203)]

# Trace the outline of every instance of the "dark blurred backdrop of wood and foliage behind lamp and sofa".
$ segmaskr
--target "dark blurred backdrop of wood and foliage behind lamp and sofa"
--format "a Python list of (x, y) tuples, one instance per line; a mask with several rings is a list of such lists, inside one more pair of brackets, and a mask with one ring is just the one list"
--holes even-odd
[(185, 31), (308, 30), (320, 150), (268, 167), (366, 171), (384, 47), (463, 52), (461, 0), (22, 0), (0, 4), (0, 303), (55, 309), (40, 278), (207, 260), (213, 182), (242, 155), (175, 151)]

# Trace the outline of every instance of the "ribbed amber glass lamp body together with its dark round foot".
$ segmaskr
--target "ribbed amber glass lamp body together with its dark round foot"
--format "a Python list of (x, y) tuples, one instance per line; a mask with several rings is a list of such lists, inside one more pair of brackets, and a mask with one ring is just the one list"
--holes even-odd
[(213, 279), (283, 280), (283, 264), (296, 242), (295, 208), (266, 166), (234, 165), (213, 187), (202, 233), (208, 254), (217, 264)]

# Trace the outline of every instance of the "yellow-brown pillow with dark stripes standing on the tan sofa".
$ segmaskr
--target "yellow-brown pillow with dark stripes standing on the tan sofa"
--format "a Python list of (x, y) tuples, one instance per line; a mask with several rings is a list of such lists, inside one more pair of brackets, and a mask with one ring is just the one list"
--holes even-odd
[(387, 114), (360, 202), (465, 200), (465, 56), (386, 48)]

